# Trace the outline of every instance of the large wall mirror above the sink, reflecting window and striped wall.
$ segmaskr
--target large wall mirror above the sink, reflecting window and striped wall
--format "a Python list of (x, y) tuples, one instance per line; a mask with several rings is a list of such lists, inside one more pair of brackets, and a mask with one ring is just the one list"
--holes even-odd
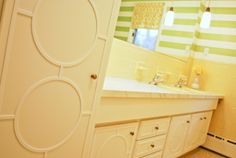
[[(133, 25), (137, 23), (134, 22), (137, 10), (140, 12), (149, 11), (149, 13), (141, 15), (148, 16), (152, 14), (150, 12), (153, 10), (158, 10), (156, 9), (158, 6), (154, 6), (157, 3), (159, 4), (159, 12), (161, 10), (161, 14), (158, 15), (160, 16), (159, 24), (156, 23), (158, 27), (153, 26), (154, 29), (151, 28), (152, 26), (145, 28), (144, 25), (133, 27)], [(143, 8), (140, 7), (141, 9), (137, 9), (138, 5), (143, 5)], [(199, 11), (201, 9), (200, 6), (200, 0), (173, 2), (170, 0), (122, 0), (115, 38), (136, 44), (157, 53), (164, 53), (187, 61), (194, 42)], [(170, 10), (170, 7), (173, 7), (175, 12), (174, 24), (172, 26), (166, 26), (164, 25), (165, 16), (168, 10)], [(146, 23), (154, 23), (155, 25), (152, 18), (146, 18), (145, 20)], [(156, 19), (154, 19), (154, 21), (155, 20)], [(146, 41), (142, 41), (144, 36)]]

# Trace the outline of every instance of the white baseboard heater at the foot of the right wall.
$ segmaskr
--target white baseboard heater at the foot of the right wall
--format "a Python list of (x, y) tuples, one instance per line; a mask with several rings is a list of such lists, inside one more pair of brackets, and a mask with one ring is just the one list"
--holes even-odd
[(233, 143), (234, 141), (231, 143), (229, 141), (231, 140), (227, 138), (208, 135), (206, 143), (202, 146), (222, 155), (236, 158), (236, 144)]

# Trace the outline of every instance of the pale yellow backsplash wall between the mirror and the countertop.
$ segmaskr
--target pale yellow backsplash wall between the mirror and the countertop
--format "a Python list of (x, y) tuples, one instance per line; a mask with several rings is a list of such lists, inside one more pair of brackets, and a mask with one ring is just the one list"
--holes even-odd
[(172, 76), (169, 82), (174, 82), (176, 75), (185, 74), (186, 71), (186, 63), (179, 59), (151, 52), (118, 39), (113, 40), (107, 76), (149, 82), (156, 72), (169, 72)]

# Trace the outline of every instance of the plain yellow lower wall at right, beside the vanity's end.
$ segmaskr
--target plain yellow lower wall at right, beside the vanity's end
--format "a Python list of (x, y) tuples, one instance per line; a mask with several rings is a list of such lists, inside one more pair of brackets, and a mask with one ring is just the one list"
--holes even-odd
[(215, 111), (210, 132), (236, 140), (236, 64), (226, 64), (196, 59), (193, 65), (201, 65), (201, 88), (225, 95)]

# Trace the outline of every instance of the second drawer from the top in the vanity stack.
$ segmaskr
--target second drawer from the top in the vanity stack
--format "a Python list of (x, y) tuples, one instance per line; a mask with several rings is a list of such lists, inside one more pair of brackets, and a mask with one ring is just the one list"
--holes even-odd
[(165, 145), (166, 135), (156, 136), (136, 141), (134, 157), (142, 157), (148, 154), (162, 151)]

